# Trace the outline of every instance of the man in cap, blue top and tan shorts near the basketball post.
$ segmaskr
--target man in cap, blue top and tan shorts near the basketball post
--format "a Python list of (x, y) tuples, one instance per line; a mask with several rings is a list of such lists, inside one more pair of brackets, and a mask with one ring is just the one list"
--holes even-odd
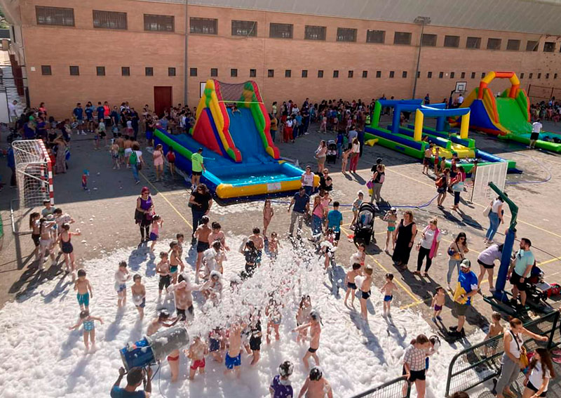
[(471, 305), (471, 298), (478, 293), (478, 277), (471, 270), (471, 262), (467, 258), (461, 260), (458, 283), (454, 291), (454, 307), (458, 316), (458, 325), (450, 327), (450, 334), (455, 337), (465, 335), (464, 322), (466, 312)]

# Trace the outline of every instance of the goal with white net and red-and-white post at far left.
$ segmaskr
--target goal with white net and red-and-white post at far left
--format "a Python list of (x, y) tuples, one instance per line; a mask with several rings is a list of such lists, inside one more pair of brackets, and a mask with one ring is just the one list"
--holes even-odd
[(15, 178), (18, 182), (20, 208), (42, 206), (53, 201), (53, 168), (41, 140), (12, 142)]

